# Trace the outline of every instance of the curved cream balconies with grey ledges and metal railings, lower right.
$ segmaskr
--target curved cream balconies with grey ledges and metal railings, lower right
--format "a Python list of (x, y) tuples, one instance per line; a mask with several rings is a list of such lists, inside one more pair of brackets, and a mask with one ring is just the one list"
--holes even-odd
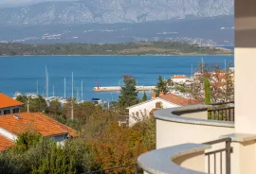
[(156, 149), (137, 159), (145, 173), (250, 174), (256, 170), (256, 136), (235, 132), (233, 103), (164, 109), (156, 111), (155, 118)]

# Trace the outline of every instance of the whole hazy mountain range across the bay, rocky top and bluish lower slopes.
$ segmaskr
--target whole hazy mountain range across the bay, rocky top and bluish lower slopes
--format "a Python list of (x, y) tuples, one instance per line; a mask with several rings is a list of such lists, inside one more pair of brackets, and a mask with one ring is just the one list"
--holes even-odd
[(79, 0), (0, 9), (0, 43), (234, 43), (232, 0)]

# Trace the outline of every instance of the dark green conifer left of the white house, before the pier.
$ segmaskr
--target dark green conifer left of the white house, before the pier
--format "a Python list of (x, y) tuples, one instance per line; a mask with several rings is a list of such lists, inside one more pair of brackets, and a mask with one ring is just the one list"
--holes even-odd
[(130, 76), (123, 77), (124, 85), (121, 86), (121, 91), (119, 95), (119, 108), (125, 109), (129, 106), (138, 103), (137, 89), (136, 89), (136, 78)]

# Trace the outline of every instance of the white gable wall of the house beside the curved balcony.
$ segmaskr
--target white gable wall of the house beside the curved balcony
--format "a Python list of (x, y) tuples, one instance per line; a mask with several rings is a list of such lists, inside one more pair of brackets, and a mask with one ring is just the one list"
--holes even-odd
[[(177, 105), (174, 105), (173, 103), (170, 103), (166, 100), (160, 99), (160, 98), (155, 98), (152, 100), (149, 100), (143, 104), (138, 104), (135, 107), (132, 107), (129, 109), (129, 126), (133, 126), (135, 123), (137, 123), (137, 120), (143, 119), (143, 114), (146, 116), (149, 116), (149, 113), (155, 109), (155, 104), (157, 102), (162, 103), (162, 107), (165, 108), (174, 108), (178, 107)], [(134, 114), (135, 116), (134, 116)], [(138, 116), (137, 116), (138, 113)], [(142, 115), (141, 115), (142, 113)]]

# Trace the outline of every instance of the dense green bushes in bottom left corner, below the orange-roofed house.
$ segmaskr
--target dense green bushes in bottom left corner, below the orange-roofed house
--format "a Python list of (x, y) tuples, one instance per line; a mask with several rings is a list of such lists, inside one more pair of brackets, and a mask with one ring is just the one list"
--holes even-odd
[[(65, 146), (61, 147), (53, 139), (41, 137), (38, 141), (39, 136), (29, 133), (26, 133), (26, 136), (30, 142), (37, 144), (27, 148), (27, 151), (10, 148), (6, 153), (0, 154), (0, 173), (71, 174), (93, 169), (94, 160), (82, 139), (68, 140)], [(24, 136), (19, 136), (18, 139), (24, 139)]]

